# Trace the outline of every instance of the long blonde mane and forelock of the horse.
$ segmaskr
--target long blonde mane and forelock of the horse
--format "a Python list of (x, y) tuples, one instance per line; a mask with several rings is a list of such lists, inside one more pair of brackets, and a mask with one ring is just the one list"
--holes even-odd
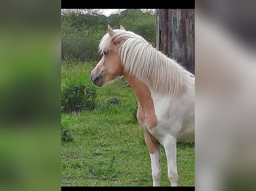
[(125, 40), (119, 51), (124, 70), (137, 80), (145, 83), (157, 93), (182, 95), (189, 82), (195, 77), (174, 59), (170, 59), (162, 52), (157, 51), (141, 36), (125, 30), (114, 30), (110, 38), (106, 34), (100, 44), (99, 51), (103, 53), (119, 38)]

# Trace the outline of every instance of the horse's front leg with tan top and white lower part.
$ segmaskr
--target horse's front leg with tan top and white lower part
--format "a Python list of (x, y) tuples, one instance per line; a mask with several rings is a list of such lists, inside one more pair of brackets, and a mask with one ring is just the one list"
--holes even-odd
[(161, 153), (160, 153), (160, 143), (150, 135), (144, 133), (144, 138), (146, 145), (148, 147), (150, 159), (151, 159), (151, 172), (153, 179), (153, 186), (160, 186), (161, 179)]

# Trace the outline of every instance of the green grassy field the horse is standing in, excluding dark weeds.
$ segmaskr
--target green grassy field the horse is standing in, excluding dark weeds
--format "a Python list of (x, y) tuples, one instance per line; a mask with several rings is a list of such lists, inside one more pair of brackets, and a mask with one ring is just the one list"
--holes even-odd
[[(62, 66), (61, 86), (71, 79), (91, 85), (96, 63)], [(150, 157), (143, 131), (136, 121), (137, 99), (125, 80), (97, 88), (98, 108), (80, 114), (62, 114), (61, 122), (74, 132), (72, 142), (61, 143), (62, 186), (152, 186)], [(116, 97), (120, 104), (108, 100)], [(195, 149), (177, 144), (179, 186), (195, 186)], [(170, 186), (161, 147), (161, 186)]]

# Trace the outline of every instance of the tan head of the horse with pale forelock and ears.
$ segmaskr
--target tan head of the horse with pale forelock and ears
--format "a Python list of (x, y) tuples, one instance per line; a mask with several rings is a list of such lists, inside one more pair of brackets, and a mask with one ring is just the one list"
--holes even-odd
[[(120, 30), (125, 30), (120, 25)], [(107, 82), (114, 80), (115, 78), (122, 76), (124, 73), (121, 59), (119, 56), (119, 50), (124, 40), (111, 39), (116, 30), (113, 30), (108, 25), (108, 33), (102, 38), (100, 43), (100, 49), (102, 52), (102, 58), (96, 67), (91, 72), (91, 79), (96, 86), (103, 86)]]

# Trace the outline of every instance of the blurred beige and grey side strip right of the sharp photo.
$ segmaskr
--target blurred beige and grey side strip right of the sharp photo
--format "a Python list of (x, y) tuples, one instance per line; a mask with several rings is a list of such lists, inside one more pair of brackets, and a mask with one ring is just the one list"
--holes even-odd
[(255, 1), (196, 4), (196, 187), (254, 190)]

